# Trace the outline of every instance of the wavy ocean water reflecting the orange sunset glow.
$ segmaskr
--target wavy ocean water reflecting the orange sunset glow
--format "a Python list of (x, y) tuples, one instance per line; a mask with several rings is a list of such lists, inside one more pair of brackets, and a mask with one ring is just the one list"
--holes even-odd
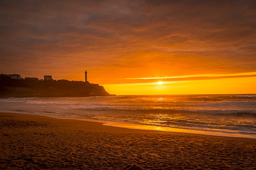
[[(119, 95), (0, 99), (0, 112), (87, 118), (256, 138), (256, 95)], [(158, 127), (158, 128), (156, 128)], [(153, 128), (153, 129), (154, 129)]]

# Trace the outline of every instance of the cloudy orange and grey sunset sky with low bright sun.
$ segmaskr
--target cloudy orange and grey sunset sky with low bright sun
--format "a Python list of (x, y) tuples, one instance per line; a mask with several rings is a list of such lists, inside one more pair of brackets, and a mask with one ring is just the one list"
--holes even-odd
[[(256, 93), (255, 0), (1, 0), (0, 73), (117, 95)], [(160, 83), (162, 82), (162, 83)]]

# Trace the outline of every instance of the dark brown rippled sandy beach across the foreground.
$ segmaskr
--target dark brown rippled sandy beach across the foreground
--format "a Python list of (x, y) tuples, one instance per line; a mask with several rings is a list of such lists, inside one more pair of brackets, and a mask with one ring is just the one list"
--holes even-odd
[(256, 139), (0, 113), (0, 169), (256, 170)]

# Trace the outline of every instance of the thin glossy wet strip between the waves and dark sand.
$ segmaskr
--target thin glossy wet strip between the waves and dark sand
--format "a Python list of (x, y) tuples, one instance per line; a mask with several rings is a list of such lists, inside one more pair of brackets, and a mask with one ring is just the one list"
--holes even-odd
[(18, 112), (0, 112), (0, 113), (45, 116), (45, 117), (52, 117), (55, 119), (90, 121), (90, 122), (102, 123), (102, 125), (104, 126), (128, 128), (128, 129), (134, 129), (134, 130), (153, 130), (153, 131), (161, 131), (161, 132), (180, 132), (180, 133), (191, 133), (191, 134), (210, 135), (210, 136), (219, 136), (219, 137), (240, 137), (240, 138), (256, 139), (256, 136), (252, 136), (252, 135), (234, 134), (234, 133), (228, 133), (228, 132), (225, 133), (225, 132), (203, 131), (203, 130), (189, 130), (189, 129), (182, 129), (182, 128), (170, 128), (170, 127), (164, 127), (164, 126), (150, 126), (150, 125), (141, 125), (141, 124), (133, 124), (133, 123), (125, 123), (125, 122), (89, 119), (89, 118), (83, 118), (83, 117), (68, 117), (68, 116), (65, 117), (65, 116), (43, 115), (43, 114), (33, 114), (33, 113), (18, 113)]

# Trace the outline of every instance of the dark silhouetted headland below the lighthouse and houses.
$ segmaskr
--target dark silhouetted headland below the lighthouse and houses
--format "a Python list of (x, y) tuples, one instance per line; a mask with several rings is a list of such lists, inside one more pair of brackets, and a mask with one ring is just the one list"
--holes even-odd
[(36, 81), (0, 75), (0, 97), (88, 97), (113, 96), (99, 84), (81, 81)]

